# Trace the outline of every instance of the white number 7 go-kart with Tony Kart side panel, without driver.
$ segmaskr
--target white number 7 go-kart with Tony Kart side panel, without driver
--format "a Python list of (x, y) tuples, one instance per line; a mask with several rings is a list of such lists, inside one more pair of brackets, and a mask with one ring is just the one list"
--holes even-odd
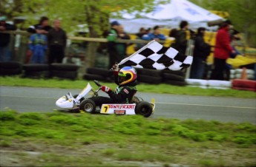
[(92, 114), (143, 115), (149, 117), (154, 113), (155, 103), (153, 98), (149, 103), (134, 96), (131, 103), (105, 103), (101, 107), (96, 106), (93, 100), (85, 98), (89, 92), (92, 92), (91, 97), (99, 96), (98, 92), (102, 85), (98, 81), (94, 81), (94, 83), (99, 86), (98, 89), (94, 90), (91, 84), (88, 83), (79, 95), (73, 96), (68, 92), (67, 95), (59, 98), (56, 101), (56, 106), (61, 109), (68, 109), (70, 112), (91, 112)]

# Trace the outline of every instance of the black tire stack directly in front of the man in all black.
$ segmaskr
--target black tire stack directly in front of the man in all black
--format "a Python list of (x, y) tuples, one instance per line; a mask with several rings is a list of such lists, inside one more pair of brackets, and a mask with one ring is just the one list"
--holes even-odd
[(75, 64), (50, 64), (50, 77), (76, 79), (78, 69)]

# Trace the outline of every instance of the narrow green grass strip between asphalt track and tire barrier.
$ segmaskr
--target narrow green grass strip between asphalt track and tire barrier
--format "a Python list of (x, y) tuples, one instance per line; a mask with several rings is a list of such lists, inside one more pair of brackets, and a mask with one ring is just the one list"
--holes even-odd
[[(0, 77), (1, 86), (29, 86), (29, 87), (47, 87), (47, 88), (62, 88), (62, 89), (83, 89), (87, 83), (96, 88), (93, 81), (85, 80), (59, 80), (59, 79), (30, 79), (19, 77)], [(104, 83), (102, 85), (116, 88), (115, 83)], [(255, 92), (242, 91), (235, 89), (202, 89), (191, 86), (171, 86), (168, 84), (146, 84), (140, 83), (137, 86), (140, 92), (166, 93), (173, 95), (202, 95), (202, 96), (217, 96), (217, 97), (233, 97), (233, 98), (256, 98)]]

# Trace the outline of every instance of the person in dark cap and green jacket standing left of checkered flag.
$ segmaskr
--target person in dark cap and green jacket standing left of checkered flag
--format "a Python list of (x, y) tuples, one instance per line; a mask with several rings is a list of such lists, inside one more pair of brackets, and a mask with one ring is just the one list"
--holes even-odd
[(112, 21), (111, 22), (111, 30), (108, 32), (107, 40), (108, 40), (108, 55), (109, 55), (109, 69), (112, 68), (112, 66), (119, 61), (121, 61), (121, 58), (119, 57), (119, 53), (116, 50), (116, 39), (118, 38), (118, 27), (119, 27), (118, 21)]

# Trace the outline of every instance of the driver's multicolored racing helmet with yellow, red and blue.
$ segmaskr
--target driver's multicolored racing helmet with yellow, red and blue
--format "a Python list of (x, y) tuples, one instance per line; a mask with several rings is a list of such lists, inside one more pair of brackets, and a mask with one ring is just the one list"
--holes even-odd
[(125, 85), (127, 83), (131, 83), (136, 81), (137, 72), (134, 67), (123, 67), (118, 72), (118, 83), (119, 85)]

